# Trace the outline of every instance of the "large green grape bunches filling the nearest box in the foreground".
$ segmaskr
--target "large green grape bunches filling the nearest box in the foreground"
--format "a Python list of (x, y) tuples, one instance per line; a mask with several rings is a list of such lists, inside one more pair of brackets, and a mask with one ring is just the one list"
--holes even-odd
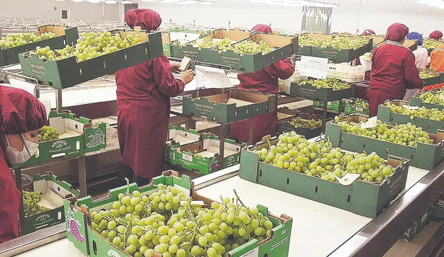
[(222, 256), (250, 238), (262, 242), (273, 224), (256, 208), (222, 198), (210, 208), (194, 205), (174, 186), (157, 185), (151, 195), (121, 193), (110, 209), (91, 212), (92, 229), (128, 254)]

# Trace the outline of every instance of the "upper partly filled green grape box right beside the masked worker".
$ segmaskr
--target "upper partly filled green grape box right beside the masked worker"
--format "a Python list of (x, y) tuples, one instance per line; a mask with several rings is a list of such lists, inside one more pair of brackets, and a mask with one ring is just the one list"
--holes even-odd
[(33, 166), (60, 157), (74, 157), (105, 149), (105, 133), (104, 123), (92, 125), (88, 118), (76, 117), (68, 112), (50, 112), (49, 126), (44, 126), (37, 134), (39, 146), (35, 154), (28, 161), (12, 167)]

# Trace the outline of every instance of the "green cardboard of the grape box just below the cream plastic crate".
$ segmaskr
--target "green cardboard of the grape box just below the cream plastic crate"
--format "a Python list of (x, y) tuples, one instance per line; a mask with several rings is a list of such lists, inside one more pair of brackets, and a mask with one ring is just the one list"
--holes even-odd
[(306, 85), (291, 83), (290, 95), (309, 98), (311, 100), (318, 100), (321, 102), (332, 102), (355, 96), (355, 85), (351, 84), (350, 88), (348, 89), (334, 90), (332, 88), (325, 87), (316, 88), (309, 83)]

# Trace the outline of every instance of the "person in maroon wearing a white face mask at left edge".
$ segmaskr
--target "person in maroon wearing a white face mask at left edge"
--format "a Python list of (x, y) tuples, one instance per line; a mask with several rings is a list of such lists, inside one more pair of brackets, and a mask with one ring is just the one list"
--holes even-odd
[(38, 148), (46, 112), (35, 96), (0, 86), (0, 243), (19, 236), (20, 192), (8, 165), (24, 163)]

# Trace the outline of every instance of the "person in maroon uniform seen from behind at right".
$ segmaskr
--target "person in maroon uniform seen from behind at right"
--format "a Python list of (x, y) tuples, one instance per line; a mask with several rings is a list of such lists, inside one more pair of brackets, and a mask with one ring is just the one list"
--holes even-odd
[(368, 89), (370, 117), (377, 115), (377, 106), (386, 100), (404, 98), (407, 88), (422, 89), (424, 82), (419, 77), (415, 56), (402, 46), (409, 28), (393, 24), (387, 29), (386, 44), (373, 52), (372, 73)]

